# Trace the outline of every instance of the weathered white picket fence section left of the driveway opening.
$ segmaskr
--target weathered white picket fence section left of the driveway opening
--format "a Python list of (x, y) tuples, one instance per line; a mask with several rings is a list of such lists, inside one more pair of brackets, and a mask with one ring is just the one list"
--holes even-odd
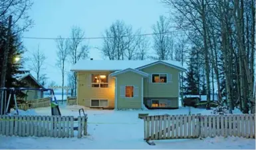
[(0, 135), (74, 137), (75, 130), (78, 138), (87, 134), (86, 116), (0, 116)]

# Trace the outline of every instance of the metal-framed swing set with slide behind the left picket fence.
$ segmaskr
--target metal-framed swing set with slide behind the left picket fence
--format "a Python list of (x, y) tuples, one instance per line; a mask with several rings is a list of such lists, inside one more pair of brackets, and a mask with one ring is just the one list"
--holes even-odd
[[(50, 91), (51, 92), (51, 114), (52, 116), (61, 116), (61, 111), (59, 109), (59, 105), (57, 102), (57, 98), (55, 96), (55, 93), (53, 89), (35, 89), (35, 88), (0, 88), (1, 91), (1, 110), (0, 115), (7, 114), (9, 110), (9, 104), (11, 100), (11, 96), (13, 96), (14, 102), (15, 102), (15, 110), (17, 114), (19, 115), (19, 108), (17, 105), (17, 98), (16, 93), (18, 91), (26, 91), (26, 90), (32, 90), (32, 91)], [(9, 97), (7, 100), (7, 92), (9, 92)]]

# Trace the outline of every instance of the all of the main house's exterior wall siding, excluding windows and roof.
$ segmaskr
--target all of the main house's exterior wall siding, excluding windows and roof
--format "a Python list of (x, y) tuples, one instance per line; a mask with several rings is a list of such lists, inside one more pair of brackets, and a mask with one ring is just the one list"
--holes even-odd
[[(108, 100), (108, 108), (114, 108), (116, 95), (117, 108), (142, 108), (142, 98), (144, 99), (144, 104), (146, 104), (148, 100), (151, 99), (167, 99), (170, 100), (168, 108), (178, 108), (180, 72), (175, 68), (168, 67), (163, 64), (152, 65), (140, 70), (150, 74), (150, 77), (144, 78), (143, 88), (142, 75), (138, 75), (132, 71), (116, 75), (116, 85), (115, 78), (108, 76), (108, 88), (92, 87), (90, 75), (93, 73), (110, 74), (112, 72), (79, 71), (77, 73), (78, 105), (90, 107), (91, 99), (106, 99)], [(168, 73), (168, 75), (172, 75), (172, 81), (168, 83), (152, 83), (152, 73)], [(138, 89), (138, 96), (134, 95), (133, 98), (126, 98), (125, 96), (121, 96), (120, 88), (124, 87), (125, 85), (134, 85)]]

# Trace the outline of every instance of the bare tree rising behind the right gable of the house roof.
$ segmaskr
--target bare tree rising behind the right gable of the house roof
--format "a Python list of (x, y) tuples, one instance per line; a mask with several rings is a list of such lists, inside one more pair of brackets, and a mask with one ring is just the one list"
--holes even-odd
[(170, 20), (160, 16), (158, 22), (153, 25), (154, 44), (153, 49), (160, 60), (173, 59), (174, 40), (172, 39)]

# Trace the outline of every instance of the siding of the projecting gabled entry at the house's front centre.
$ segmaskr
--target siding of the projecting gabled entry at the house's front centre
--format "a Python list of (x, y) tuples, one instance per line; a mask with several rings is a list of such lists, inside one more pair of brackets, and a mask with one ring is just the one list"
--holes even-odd
[[(122, 108), (142, 108), (142, 76), (132, 71), (116, 75), (117, 77), (117, 106), (118, 109)], [(138, 89), (138, 96), (134, 94), (133, 98), (121, 96), (120, 88), (126, 85), (134, 85)], [(134, 89), (134, 91), (136, 90)], [(135, 93), (135, 92), (134, 92)]]

